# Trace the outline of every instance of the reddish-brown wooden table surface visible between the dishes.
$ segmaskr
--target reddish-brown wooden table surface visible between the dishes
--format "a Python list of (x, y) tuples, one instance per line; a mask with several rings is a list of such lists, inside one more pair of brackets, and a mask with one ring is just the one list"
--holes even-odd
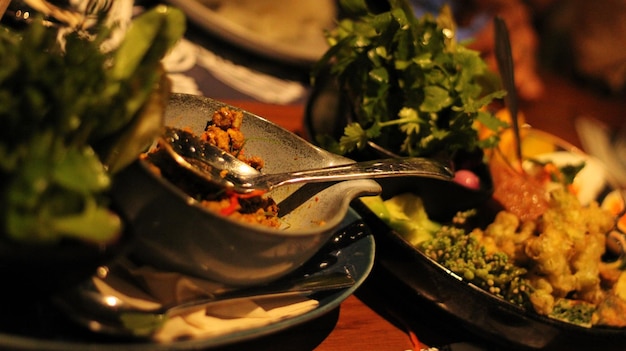
[[(547, 94), (542, 99), (524, 102), (521, 111), (532, 126), (554, 133), (580, 145), (574, 128), (578, 116), (593, 116), (619, 127), (626, 117), (626, 99), (602, 96), (564, 78), (546, 75)], [(264, 116), (303, 135), (302, 105), (268, 105), (251, 101), (228, 103)], [(279, 334), (224, 350), (316, 350), (368, 351), (413, 350), (409, 331), (427, 345), (456, 341), (482, 342), (463, 331), (456, 321), (446, 319), (433, 306), (409, 301), (411, 294), (400, 294), (398, 282), (381, 273), (379, 267), (340, 308), (328, 315)], [(400, 295), (400, 296), (398, 296)], [(491, 348), (490, 348), (491, 349)]]

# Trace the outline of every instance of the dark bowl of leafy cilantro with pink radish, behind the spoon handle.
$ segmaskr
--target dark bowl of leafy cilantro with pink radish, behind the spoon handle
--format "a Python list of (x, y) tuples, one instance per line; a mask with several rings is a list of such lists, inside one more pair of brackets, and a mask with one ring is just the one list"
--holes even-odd
[[(410, 189), (428, 198), (431, 216), (447, 218), (493, 192), (483, 149), (497, 143), (507, 124), (487, 106), (504, 92), (485, 84), (492, 79), (485, 62), (456, 41), (446, 7), (437, 18), (418, 19), (403, 1), (387, 4), (377, 11), (364, 1), (341, 2), (347, 17), (329, 32), (331, 47), (312, 72), (305, 123), (311, 139), (353, 159), (384, 154), (450, 162), (458, 183), (424, 180)], [(479, 138), (477, 125), (495, 132)], [(383, 197), (407, 190), (386, 182)]]

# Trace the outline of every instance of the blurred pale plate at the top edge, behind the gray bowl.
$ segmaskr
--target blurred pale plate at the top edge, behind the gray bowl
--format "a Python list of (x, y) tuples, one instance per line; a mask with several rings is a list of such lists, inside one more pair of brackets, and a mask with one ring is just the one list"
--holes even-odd
[(324, 29), (334, 25), (333, 0), (168, 0), (207, 32), (253, 53), (310, 65), (328, 49)]

